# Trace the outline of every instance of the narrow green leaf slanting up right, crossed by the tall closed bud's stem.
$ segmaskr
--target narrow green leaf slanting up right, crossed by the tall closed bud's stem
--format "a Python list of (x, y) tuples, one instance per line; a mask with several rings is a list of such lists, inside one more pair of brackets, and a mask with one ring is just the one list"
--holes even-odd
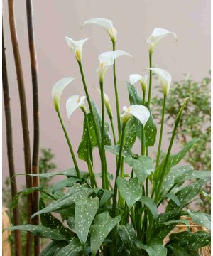
[[(199, 142), (199, 141), (200, 141), (200, 139), (192, 139), (190, 142), (187, 142), (185, 144), (185, 146), (178, 152), (178, 154), (171, 155), (169, 157), (168, 164), (167, 164), (166, 169), (165, 169), (165, 174), (168, 174), (170, 169), (173, 166), (176, 166), (183, 159), (183, 157), (187, 154), (187, 152), (190, 151), (192, 146), (196, 142)], [(154, 181), (156, 181), (156, 182), (158, 182), (158, 180), (160, 178), (160, 174), (161, 174), (161, 171), (163, 169), (164, 163), (165, 163), (165, 158), (163, 159), (163, 161), (161, 161), (160, 166), (158, 167), (158, 169), (154, 173)]]

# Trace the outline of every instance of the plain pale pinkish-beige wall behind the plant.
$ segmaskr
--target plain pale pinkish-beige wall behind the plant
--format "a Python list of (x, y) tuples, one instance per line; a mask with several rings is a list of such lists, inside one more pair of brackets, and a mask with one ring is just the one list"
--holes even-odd
[[(13, 118), (13, 142), (16, 172), (24, 173), (23, 137), (21, 131), (21, 114), (18, 99), (16, 72), (11, 48), (11, 37), (8, 23), (7, 1), (4, 0), (4, 33), (6, 57), (11, 92), (11, 110)], [(128, 105), (126, 85), (131, 73), (146, 72), (148, 67), (148, 50), (146, 39), (153, 28), (167, 28), (178, 35), (178, 42), (168, 36), (159, 43), (153, 55), (153, 64), (168, 70), (173, 80), (182, 79), (183, 73), (190, 73), (195, 80), (201, 80), (210, 68), (210, 1), (209, 0), (36, 0), (34, 6), (35, 43), (38, 55), (38, 83), (40, 92), (40, 147), (50, 147), (55, 153), (55, 163), (58, 170), (67, 169), (72, 164), (70, 153), (53, 109), (51, 89), (55, 82), (65, 76), (77, 79), (62, 95), (62, 116), (70, 133), (70, 139), (77, 145), (82, 137), (82, 112), (73, 114), (70, 123), (65, 115), (65, 101), (70, 95), (84, 95), (80, 72), (74, 54), (70, 53), (65, 36), (75, 40), (89, 37), (83, 49), (83, 66), (87, 84), (92, 98), (100, 103), (99, 95), (92, 85), (98, 86), (95, 69), (98, 66), (97, 57), (106, 50), (111, 50), (111, 41), (106, 32), (97, 26), (85, 26), (79, 29), (88, 18), (109, 18), (117, 29), (117, 49), (126, 50), (133, 55), (130, 58), (120, 58), (117, 61), (117, 78), (120, 92), (120, 105)], [(24, 0), (16, 1), (16, 23), (20, 44), (23, 73), (28, 100), (28, 119), (30, 124), (31, 144), (33, 143), (33, 115), (31, 70), (28, 53), (28, 37), (26, 28), (26, 4)], [(155, 87), (156, 81), (153, 82)], [(110, 96), (114, 106), (114, 85), (112, 70), (107, 73), (104, 90)], [(153, 89), (153, 93), (157, 93)], [(159, 95), (161, 97), (161, 95)], [(100, 105), (100, 104), (99, 104)], [(3, 113), (4, 114), (4, 113)], [(166, 135), (165, 135), (166, 136)], [(163, 144), (167, 149), (167, 144)], [(155, 149), (153, 149), (153, 152)], [(108, 155), (109, 171), (115, 172), (114, 157)], [(84, 163), (80, 166), (84, 168)], [(99, 172), (99, 164), (96, 166)], [(3, 176), (8, 176), (6, 158), (6, 132), (3, 115)], [(23, 176), (18, 177), (18, 183), (24, 182)]]

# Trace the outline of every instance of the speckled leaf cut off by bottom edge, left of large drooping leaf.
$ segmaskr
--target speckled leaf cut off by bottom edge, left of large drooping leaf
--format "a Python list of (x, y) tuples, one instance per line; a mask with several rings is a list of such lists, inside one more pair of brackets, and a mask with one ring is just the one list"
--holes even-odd
[(62, 247), (55, 256), (82, 256), (82, 245), (80, 240), (75, 238), (69, 245)]

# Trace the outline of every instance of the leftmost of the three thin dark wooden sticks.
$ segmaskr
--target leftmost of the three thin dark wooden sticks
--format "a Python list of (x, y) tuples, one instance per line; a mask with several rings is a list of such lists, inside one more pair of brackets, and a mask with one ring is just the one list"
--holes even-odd
[[(3, 27), (3, 25), (2, 25)], [(2, 86), (4, 94), (4, 112), (6, 120), (6, 146), (7, 146), (7, 157), (9, 164), (9, 176), (11, 183), (11, 199), (17, 194), (17, 185), (16, 185), (16, 171), (14, 166), (13, 159), (13, 134), (12, 134), (12, 121), (11, 121), (11, 105), (10, 105), (10, 95), (9, 95), (9, 85), (7, 79), (7, 70), (6, 70), (6, 54), (4, 47), (4, 31), (2, 28)], [(20, 225), (20, 217), (18, 206), (13, 209), (13, 223), (14, 225)], [(21, 256), (21, 231), (15, 230), (15, 254), (16, 256)]]

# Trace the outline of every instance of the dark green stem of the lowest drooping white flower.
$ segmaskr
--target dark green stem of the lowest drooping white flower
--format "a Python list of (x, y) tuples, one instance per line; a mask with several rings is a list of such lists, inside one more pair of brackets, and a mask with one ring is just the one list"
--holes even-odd
[(121, 167), (121, 159), (122, 159), (122, 150), (123, 150), (123, 146), (124, 146), (124, 135), (125, 135), (125, 127), (126, 124), (123, 124), (122, 127), (122, 134), (121, 134), (121, 144), (120, 144), (120, 150), (119, 150), (119, 159), (118, 159), (118, 164), (117, 164), (117, 169), (116, 169), (116, 178), (115, 178), (115, 182), (114, 182), (114, 196), (113, 196), (113, 203), (112, 203), (112, 211), (111, 211), (111, 215), (112, 217), (114, 217), (116, 215), (116, 198), (117, 198), (117, 178), (119, 176), (119, 172), (120, 172), (120, 167)]

